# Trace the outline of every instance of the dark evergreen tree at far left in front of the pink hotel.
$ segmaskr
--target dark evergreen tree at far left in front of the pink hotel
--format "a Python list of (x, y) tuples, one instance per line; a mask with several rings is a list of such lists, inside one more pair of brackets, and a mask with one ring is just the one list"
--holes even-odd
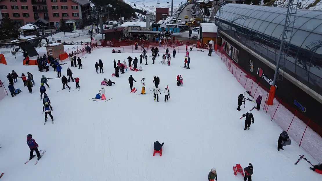
[(14, 23), (11, 22), (10, 18), (4, 17), (1, 20), (1, 25), (0, 40), (19, 37), (20, 31), (15, 27)]

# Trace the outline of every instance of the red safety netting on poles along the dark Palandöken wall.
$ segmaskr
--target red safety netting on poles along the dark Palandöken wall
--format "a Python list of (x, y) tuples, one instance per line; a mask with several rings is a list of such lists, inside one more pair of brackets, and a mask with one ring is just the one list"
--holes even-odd
[(273, 105), (267, 105), (266, 100), (270, 90), (259, 84), (254, 76), (236, 64), (222, 47), (218, 46), (216, 54), (220, 56), (237, 81), (250, 92), (253, 100), (256, 100), (259, 94), (263, 96), (265, 101), (261, 103), (261, 111), (269, 114), (271, 121), (274, 120), (283, 130), (287, 131), (299, 147), (302, 146), (313, 158), (322, 162), (322, 138), (320, 136), (322, 128), (277, 96), (274, 96)]

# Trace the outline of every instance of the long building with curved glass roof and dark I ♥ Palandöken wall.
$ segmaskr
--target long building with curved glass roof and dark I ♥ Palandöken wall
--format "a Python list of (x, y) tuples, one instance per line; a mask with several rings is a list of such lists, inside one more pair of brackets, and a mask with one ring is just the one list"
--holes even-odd
[[(270, 89), (287, 8), (226, 4), (215, 19), (223, 49), (245, 71)], [(298, 9), (285, 75), (275, 95), (322, 127), (322, 13)], [(228, 51), (228, 49), (230, 49)], [(250, 62), (253, 67), (251, 68)], [(317, 131), (320, 135), (321, 133)]]

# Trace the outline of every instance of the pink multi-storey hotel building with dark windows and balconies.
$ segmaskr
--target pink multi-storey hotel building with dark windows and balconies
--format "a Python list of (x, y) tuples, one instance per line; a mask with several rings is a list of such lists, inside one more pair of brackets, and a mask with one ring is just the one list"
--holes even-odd
[(59, 27), (61, 18), (79, 27), (90, 13), (89, 0), (0, 0), (0, 19), (10, 17), (19, 28), (25, 24)]

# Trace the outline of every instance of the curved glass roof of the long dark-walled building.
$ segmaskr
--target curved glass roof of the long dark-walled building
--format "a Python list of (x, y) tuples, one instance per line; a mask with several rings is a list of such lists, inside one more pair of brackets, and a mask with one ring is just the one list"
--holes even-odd
[[(287, 8), (243, 4), (221, 8), (220, 30), (276, 65)], [(322, 12), (298, 9), (290, 30), (285, 72), (322, 95)]]

